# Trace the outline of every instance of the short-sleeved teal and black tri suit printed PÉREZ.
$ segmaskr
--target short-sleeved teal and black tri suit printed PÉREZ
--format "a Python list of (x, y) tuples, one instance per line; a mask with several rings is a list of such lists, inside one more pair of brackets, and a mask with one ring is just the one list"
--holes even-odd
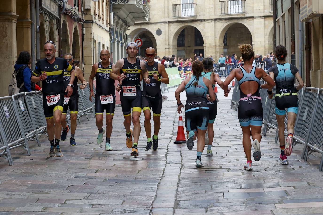
[(298, 98), (297, 90), (294, 87), (295, 74), (298, 72), (296, 66), (292, 64), (277, 64), (269, 69), (274, 73), (276, 83), (275, 113), (285, 115), (287, 112), (297, 113)]

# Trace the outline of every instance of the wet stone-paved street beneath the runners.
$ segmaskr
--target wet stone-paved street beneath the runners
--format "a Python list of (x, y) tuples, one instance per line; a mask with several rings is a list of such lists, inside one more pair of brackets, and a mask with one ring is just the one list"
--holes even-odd
[(61, 142), (62, 158), (48, 158), (44, 135), (42, 147), (29, 142), (31, 156), (21, 148), (12, 150), (13, 166), (0, 159), (0, 215), (323, 214), (320, 156), (312, 153), (304, 162), (303, 145), (297, 144), (289, 164), (282, 165), (276, 132), (270, 130), (260, 143), (261, 160), (253, 162), (253, 171), (244, 171), (237, 112), (230, 109), (231, 94), (224, 98), (220, 88), (214, 155), (206, 157), (205, 148), (201, 159), (205, 167), (195, 168), (196, 142), (192, 151), (186, 144), (173, 143), (179, 117), (174, 91), (165, 94), (157, 151), (144, 150), (147, 138), (141, 114), (140, 155), (130, 156), (121, 106), (113, 120), (113, 151), (105, 151), (104, 142), (96, 143), (93, 116), (89, 121), (81, 118), (76, 147)]

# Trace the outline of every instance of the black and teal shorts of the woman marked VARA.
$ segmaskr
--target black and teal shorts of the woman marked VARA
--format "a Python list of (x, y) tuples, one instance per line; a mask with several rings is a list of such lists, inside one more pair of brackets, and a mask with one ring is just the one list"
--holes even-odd
[(185, 110), (185, 127), (187, 131), (206, 130), (209, 122), (209, 108), (190, 108)]

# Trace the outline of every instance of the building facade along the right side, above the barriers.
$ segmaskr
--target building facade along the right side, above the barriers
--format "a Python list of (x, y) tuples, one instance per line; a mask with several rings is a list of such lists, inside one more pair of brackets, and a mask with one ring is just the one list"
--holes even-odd
[(292, 5), (286, 0), (275, 2), (276, 44), (286, 46), (287, 62), (297, 66), (306, 86), (322, 88), (323, 1), (293, 2)]

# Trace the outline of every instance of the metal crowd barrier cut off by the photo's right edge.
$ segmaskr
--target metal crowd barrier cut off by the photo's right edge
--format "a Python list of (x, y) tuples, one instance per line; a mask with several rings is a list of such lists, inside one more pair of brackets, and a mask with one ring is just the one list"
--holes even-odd
[[(315, 126), (314, 126), (315, 123)], [(321, 153), (319, 171), (323, 169), (323, 88), (320, 89), (315, 112), (312, 117), (312, 128), (309, 129), (307, 139), (304, 144), (302, 159), (307, 161), (307, 157), (313, 151)]]

